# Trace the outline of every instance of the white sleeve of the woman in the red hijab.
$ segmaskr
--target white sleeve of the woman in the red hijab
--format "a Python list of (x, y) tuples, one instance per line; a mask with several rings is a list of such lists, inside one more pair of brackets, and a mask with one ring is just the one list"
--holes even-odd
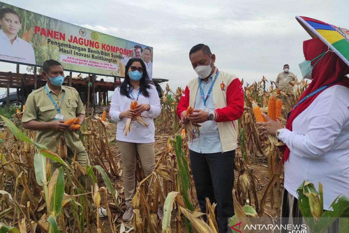
[(279, 139), (300, 157), (316, 159), (326, 154), (348, 121), (347, 106), (334, 96), (326, 96), (308, 116), (305, 134), (282, 130)]

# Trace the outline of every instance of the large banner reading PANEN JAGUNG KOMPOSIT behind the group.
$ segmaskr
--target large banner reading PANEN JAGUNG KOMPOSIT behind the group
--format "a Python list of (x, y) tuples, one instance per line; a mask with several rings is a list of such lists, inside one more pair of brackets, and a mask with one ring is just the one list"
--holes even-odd
[(2, 61), (42, 66), (54, 59), (68, 71), (124, 77), (132, 57), (144, 61), (151, 79), (152, 47), (0, 2)]

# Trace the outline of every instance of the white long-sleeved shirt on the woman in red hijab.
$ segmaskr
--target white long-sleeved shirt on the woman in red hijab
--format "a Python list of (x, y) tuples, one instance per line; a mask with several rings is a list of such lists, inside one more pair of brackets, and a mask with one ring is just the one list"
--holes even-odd
[(285, 189), (294, 197), (305, 180), (324, 187), (324, 209), (343, 194), (349, 197), (349, 88), (325, 89), (279, 134), (289, 148)]

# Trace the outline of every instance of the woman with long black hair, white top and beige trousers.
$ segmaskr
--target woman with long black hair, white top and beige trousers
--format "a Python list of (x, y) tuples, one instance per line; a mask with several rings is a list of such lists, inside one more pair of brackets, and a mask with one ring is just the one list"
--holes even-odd
[[(138, 101), (136, 110), (130, 109), (132, 101)], [(149, 84), (146, 65), (140, 58), (131, 58), (125, 66), (125, 80), (114, 91), (109, 116), (117, 121), (116, 139), (121, 152), (124, 170), (126, 211), (122, 220), (133, 218), (132, 198), (135, 193), (136, 152), (138, 152), (145, 175), (155, 169), (155, 126), (153, 119), (161, 113), (160, 99), (155, 86)], [(132, 121), (132, 130), (125, 136), (127, 118), (141, 114), (146, 127)]]

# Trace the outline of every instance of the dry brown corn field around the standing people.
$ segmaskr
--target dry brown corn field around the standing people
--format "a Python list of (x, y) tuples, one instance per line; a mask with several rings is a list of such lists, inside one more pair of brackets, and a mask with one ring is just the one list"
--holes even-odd
[[(258, 130), (255, 110), (268, 115), (275, 112), (285, 123), (287, 113), (307, 87), (305, 81), (296, 80), (292, 90), (280, 92), (273, 85), (266, 89), (267, 82), (263, 77), (244, 87), (232, 190), (235, 212), (243, 214), (242, 206), (247, 205), (256, 217), (279, 216), (283, 168), (282, 144)], [(206, 200), (204, 221), (196, 201), (187, 146), (191, 131), (176, 117), (182, 94), (180, 87), (172, 91), (168, 85), (163, 93), (161, 116), (155, 119), (155, 171), (145, 177), (138, 160), (134, 218), (128, 223), (120, 220), (126, 207), (122, 162), (114, 140), (116, 123), (106, 119), (105, 113), (87, 116), (79, 130), (91, 162), (88, 167), (77, 163), (76, 154), (67, 158), (63, 138), (51, 139), (59, 154), (37, 144), (36, 133), (21, 126), (23, 112), (17, 112), (13, 120), (2, 117), (8, 128), (0, 134), (0, 232), (218, 232), (216, 204)], [(52, 173), (50, 160), (62, 167)], [(255, 172), (260, 168), (265, 175)], [(91, 191), (83, 187), (80, 176), (95, 182)], [(159, 205), (163, 219), (157, 214)], [(99, 206), (106, 208), (107, 219), (99, 218)]]

